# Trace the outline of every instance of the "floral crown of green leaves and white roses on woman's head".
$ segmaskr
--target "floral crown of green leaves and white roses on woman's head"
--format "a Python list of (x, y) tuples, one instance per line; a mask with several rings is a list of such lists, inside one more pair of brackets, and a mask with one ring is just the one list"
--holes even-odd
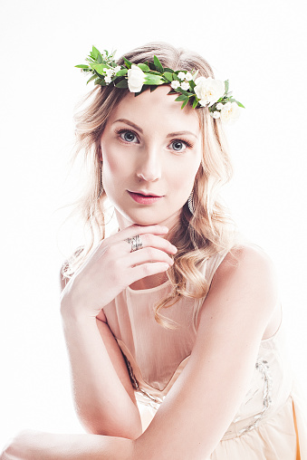
[(198, 71), (173, 71), (163, 67), (157, 56), (154, 56), (153, 62), (138, 64), (124, 57), (124, 64), (118, 65), (114, 54), (115, 52), (109, 53), (107, 50), (100, 53), (93, 46), (86, 59), (89, 64), (75, 67), (82, 69), (82, 72), (91, 73), (87, 83), (94, 81), (101, 86), (112, 83), (116, 88), (128, 88), (136, 96), (147, 89), (154, 91), (159, 85), (168, 84), (171, 87), (168, 94), (179, 94), (175, 101), (182, 101), (181, 109), (187, 105), (187, 102), (192, 104), (193, 109), (207, 106), (214, 119), (234, 120), (239, 115), (239, 107), (245, 109), (245, 106), (235, 101), (232, 93), (229, 92), (228, 80), (197, 77)]

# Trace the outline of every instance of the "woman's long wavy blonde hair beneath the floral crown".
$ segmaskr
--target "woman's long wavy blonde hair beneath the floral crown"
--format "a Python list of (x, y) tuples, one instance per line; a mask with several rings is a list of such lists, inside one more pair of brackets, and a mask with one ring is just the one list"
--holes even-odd
[[(168, 43), (148, 43), (124, 55), (134, 63), (152, 62), (156, 55), (164, 67), (175, 71), (198, 70), (199, 76), (214, 78), (212, 68), (203, 57)], [(118, 64), (123, 63), (120, 58)], [(75, 115), (75, 155), (83, 152), (90, 168), (88, 187), (78, 201), (77, 209), (82, 212), (85, 224), (90, 229), (90, 239), (64, 264), (64, 278), (70, 278), (89, 256), (95, 244), (105, 238), (107, 196), (104, 191), (100, 196), (101, 135), (111, 110), (127, 93), (128, 90), (111, 85), (97, 85), (82, 101), (87, 102), (86, 108)], [(195, 212), (192, 215), (186, 203), (182, 207), (179, 224), (168, 233), (168, 240), (177, 246), (174, 264), (167, 273), (172, 290), (155, 306), (155, 320), (168, 329), (177, 329), (177, 325), (161, 315), (159, 310), (170, 307), (180, 297), (206, 297), (209, 284), (200, 271), (201, 265), (216, 253), (231, 251), (238, 235), (228, 210), (219, 201), (220, 187), (233, 175), (221, 121), (213, 119), (207, 108), (197, 109), (197, 115), (203, 134), (203, 156), (193, 188)]]

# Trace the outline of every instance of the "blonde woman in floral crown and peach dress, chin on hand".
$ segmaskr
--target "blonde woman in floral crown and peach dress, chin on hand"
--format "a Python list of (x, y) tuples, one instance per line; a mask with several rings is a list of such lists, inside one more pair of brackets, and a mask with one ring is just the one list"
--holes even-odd
[(1, 458), (307, 459), (273, 264), (218, 202), (222, 120), (241, 104), (195, 53), (149, 43), (125, 58), (93, 48), (82, 66), (98, 83), (77, 119), (91, 241), (62, 270), (89, 434), (25, 431)]

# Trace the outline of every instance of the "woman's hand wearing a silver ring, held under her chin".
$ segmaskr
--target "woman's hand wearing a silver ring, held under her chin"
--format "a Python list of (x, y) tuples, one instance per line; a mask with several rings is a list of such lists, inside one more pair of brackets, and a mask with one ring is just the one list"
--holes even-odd
[[(173, 264), (177, 248), (163, 238), (161, 225), (131, 225), (101, 241), (62, 291), (62, 313), (96, 317), (121, 291), (146, 276), (163, 273)], [(142, 248), (131, 253), (126, 238), (140, 235)], [(168, 253), (168, 254), (167, 254)]]

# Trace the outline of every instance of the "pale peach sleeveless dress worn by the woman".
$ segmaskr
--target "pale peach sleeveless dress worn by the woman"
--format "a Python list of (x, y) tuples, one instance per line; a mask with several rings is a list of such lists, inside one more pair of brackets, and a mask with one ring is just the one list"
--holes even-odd
[[(226, 252), (210, 257), (202, 270), (211, 280)], [(143, 431), (185, 368), (197, 336), (203, 300), (180, 299), (162, 314), (183, 327), (169, 331), (155, 321), (153, 306), (170, 289), (128, 287), (103, 311), (130, 370)], [(210, 460), (307, 460), (307, 423), (285, 347), (281, 325), (262, 340), (250, 388)], [(208, 460), (205, 459), (204, 460)]]

